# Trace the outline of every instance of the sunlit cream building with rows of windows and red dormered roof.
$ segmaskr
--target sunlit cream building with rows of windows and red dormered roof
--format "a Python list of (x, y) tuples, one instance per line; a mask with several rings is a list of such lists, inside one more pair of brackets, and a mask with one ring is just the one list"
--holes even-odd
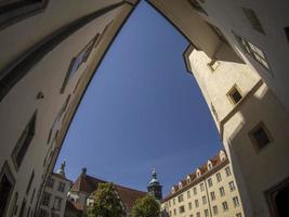
[(187, 175), (161, 202), (165, 216), (242, 217), (244, 209), (232, 165), (224, 151)]

